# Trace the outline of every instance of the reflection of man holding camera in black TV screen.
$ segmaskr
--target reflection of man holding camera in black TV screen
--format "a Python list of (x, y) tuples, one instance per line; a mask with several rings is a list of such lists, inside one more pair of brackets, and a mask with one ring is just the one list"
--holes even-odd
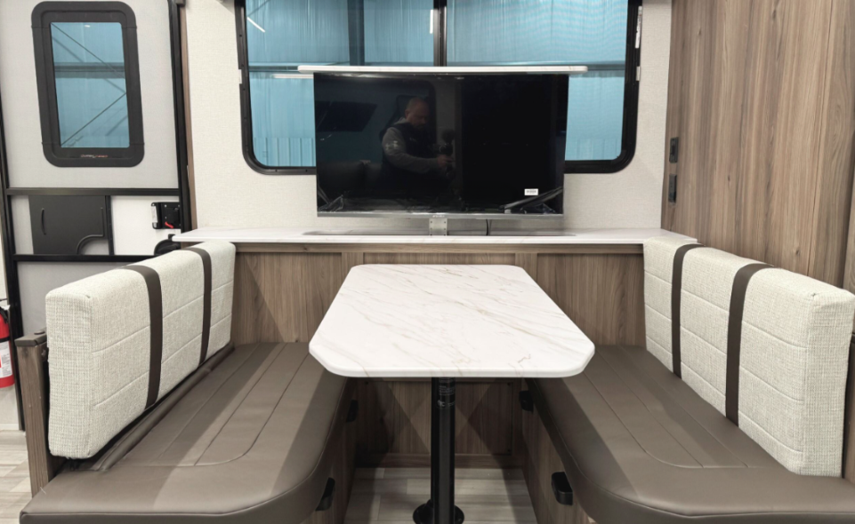
[(431, 107), (424, 99), (410, 99), (404, 117), (383, 134), (383, 186), (386, 189), (427, 196), (447, 185), (446, 175), (453, 160), (434, 152), (435, 140), (427, 125), (430, 117)]

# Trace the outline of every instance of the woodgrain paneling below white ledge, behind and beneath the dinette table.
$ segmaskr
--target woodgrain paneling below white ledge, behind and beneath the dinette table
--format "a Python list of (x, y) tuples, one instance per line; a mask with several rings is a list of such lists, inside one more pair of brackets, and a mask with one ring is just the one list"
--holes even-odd
[[(401, 246), (339, 252), (247, 251), (244, 246), (236, 259), (234, 342), (308, 342), (347, 273), (360, 264), (520, 266), (595, 343), (643, 344), (641, 253), (614, 246), (571, 253), (515, 252), (512, 246), (504, 252), (414, 252)], [(519, 390), (519, 380), (458, 381), (459, 464), (521, 464)], [(430, 397), (426, 380), (360, 380), (359, 464), (430, 464)]]

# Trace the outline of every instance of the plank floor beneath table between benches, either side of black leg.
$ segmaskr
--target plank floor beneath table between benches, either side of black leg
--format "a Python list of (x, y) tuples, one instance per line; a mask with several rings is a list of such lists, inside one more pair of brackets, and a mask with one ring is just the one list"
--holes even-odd
[[(430, 478), (427, 468), (358, 469), (346, 524), (411, 523), (430, 497)], [(470, 524), (536, 522), (520, 470), (458, 469), (455, 497)]]

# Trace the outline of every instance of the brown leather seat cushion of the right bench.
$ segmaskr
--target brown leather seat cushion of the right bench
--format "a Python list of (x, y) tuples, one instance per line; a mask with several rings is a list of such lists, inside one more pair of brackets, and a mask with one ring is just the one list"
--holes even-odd
[(642, 348), (528, 385), (598, 524), (855, 522), (855, 485), (788, 472)]

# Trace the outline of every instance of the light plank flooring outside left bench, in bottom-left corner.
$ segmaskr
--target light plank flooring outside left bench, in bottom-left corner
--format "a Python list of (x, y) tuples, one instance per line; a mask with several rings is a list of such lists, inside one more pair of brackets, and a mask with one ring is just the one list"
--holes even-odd
[(0, 431), (0, 524), (17, 524), (20, 510), (30, 498), (24, 433)]

